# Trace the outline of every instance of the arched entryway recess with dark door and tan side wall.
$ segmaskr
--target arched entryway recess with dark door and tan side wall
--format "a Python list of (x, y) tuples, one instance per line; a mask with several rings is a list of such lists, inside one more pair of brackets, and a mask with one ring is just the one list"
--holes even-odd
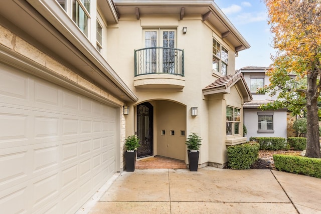
[(159, 155), (186, 159), (186, 106), (169, 100), (149, 100), (136, 107), (137, 157)]

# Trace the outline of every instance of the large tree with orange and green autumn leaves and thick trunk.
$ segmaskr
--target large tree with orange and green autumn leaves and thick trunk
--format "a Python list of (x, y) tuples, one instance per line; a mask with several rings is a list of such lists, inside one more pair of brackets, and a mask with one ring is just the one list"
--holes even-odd
[(273, 34), (273, 65), (269, 86), (261, 91), (279, 93), (263, 109), (286, 107), (306, 111), (308, 157), (320, 158), (318, 106), (321, 90), (321, 0), (264, 0)]

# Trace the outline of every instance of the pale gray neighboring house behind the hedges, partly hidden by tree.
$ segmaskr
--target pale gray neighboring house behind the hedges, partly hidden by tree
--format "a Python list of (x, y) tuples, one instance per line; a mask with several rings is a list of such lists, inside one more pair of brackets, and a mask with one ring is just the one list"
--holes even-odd
[(253, 100), (243, 105), (244, 125), (247, 129), (246, 137), (287, 137), (287, 120), (290, 114), (287, 109), (265, 110), (258, 107), (273, 102), (277, 95), (257, 93), (258, 88), (269, 85), (269, 77), (265, 74), (268, 67), (248, 66), (236, 73), (242, 73), (250, 88)]

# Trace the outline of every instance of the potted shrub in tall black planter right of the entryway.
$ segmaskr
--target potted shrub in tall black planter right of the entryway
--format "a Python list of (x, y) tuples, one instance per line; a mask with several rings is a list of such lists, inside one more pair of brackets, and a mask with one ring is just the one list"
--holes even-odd
[(199, 165), (200, 147), (202, 139), (197, 133), (192, 132), (187, 138), (187, 154), (189, 158), (190, 171), (197, 171)]

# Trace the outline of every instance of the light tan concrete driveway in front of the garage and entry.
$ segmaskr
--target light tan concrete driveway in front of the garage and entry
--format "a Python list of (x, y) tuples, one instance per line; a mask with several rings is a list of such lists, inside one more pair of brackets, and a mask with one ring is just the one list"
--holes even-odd
[(80, 213), (321, 213), (321, 179), (268, 169), (136, 169)]

